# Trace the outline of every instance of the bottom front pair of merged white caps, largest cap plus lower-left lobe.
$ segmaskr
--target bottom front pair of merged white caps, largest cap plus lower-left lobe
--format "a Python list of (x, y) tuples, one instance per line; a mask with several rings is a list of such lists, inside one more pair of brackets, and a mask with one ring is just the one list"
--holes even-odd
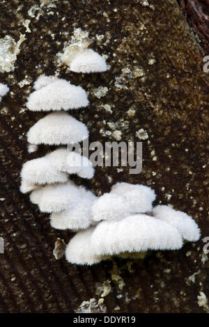
[(111, 255), (147, 250), (177, 250), (183, 239), (164, 221), (146, 214), (129, 216), (121, 221), (102, 221), (78, 232), (66, 248), (66, 259), (75, 264), (95, 264)]

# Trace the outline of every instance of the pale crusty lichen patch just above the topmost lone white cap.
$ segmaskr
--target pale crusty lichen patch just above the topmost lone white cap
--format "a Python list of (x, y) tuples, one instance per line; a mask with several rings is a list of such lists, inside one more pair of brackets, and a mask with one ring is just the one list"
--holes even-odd
[(91, 40), (88, 38), (88, 32), (75, 29), (70, 42), (65, 43), (63, 52), (57, 54), (59, 65), (70, 65), (72, 59), (84, 49), (87, 49), (89, 45), (91, 45)]

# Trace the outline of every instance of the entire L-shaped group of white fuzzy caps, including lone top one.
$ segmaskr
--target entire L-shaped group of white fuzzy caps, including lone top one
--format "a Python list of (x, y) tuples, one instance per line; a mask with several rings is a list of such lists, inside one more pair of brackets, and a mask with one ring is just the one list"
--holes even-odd
[[(102, 72), (107, 66), (93, 50), (84, 49), (70, 69)], [(77, 232), (65, 250), (68, 262), (95, 264), (111, 255), (176, 250), (183, 241), (199, 239), (199, 228), (187, 214), (164, 205), (153, 208), (155, 192), (148, 186), (120, 182), (96, 197), (69, 180), (71, 174), (88, 179), (94, 175), (91, 161), (67, 147), (88, 138), (86, 125), (66, 112), (88, 106), (88, 97), (80, 86), (52, 76), (40, 76), (34, 88), (27, 108), (52, 112), (29, 129), (29, 152), (41, 144), (59, 148), (24, 163), (20, 190), (31, 192), (31, 202), (50, 214), (53, 228)]]

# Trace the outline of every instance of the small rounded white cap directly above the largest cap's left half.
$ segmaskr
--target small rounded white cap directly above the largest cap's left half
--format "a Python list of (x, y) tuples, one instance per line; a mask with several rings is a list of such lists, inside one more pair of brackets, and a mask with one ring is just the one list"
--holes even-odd
[(118, 221), (129, 214), (129, 205), (116, 194), (104, 193), (92, 207), (94, 221)]

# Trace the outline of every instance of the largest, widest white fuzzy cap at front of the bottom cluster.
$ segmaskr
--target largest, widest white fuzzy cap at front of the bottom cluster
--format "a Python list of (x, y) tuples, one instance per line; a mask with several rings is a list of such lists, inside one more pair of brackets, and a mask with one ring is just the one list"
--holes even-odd
[(168, 223), (146, 214), (121, 221), (102, 221), (91, 235), (95, 255), (117, 255), (147, 250), (177, 250), (183, 239)]

